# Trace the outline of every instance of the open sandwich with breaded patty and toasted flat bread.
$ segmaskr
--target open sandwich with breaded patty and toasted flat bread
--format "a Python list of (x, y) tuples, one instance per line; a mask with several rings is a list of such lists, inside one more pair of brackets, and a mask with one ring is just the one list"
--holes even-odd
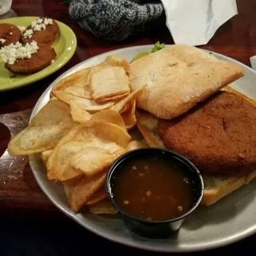
[(138, 130), (150, 146), (189, 158), (210, 206), (256, 176), (256, 103), (228, 85), (243, 76), (233, 63), (175, 45), (130, 64)]

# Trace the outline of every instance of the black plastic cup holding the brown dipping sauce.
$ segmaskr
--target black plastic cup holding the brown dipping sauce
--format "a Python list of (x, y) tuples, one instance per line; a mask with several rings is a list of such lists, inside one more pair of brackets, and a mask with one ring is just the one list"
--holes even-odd
[[(115, 177), (117, 177), (120, 170), (122, 170), (121, 166), (134, 157), (150, 157), (150, 155), (152, 155), (152, 157), (167, 156), (168, 158), (174, 158), (175, 161), (178, 160), (179, 162), (181, 162), (182, 165), (184, 165), (184, 170), (187, 170), (189, 172), (188, 174), (190, 175), (190, 178), (192, 178), (192, 184), (194, 189), (194, 205), (189, 211), (187, 211), (185, 214), (182, 214), (178, 218), (171, 218), (162, 221), (152, 221), (138, 218), (133, 216), (132, 214), (129, 214), (125, 210), (122, 210), (122, 207), (118, 206), (118, 204), (114, 201), (112, 187), (114, 186)], [(128, 228), (134, 231), (134, 233), (150, 238), (166, 238), (170, 236), (170, 234), (177, 231), (182, 226), (182, 222), (185, 220), (185, 218), (198, 207), (198, 205), (202, 201), (202, 196), (204, 192), (204, 184), (198, 168), (181, 154), (174, 153), (170, 150), (163, 150), (161, 148), (144, 148), (139, 150), (133, 150), (126, 154), (123, 154), (110, 167), (110, 171), (106, 176), (105, 185), (106, 194), (110, 202), (112, 203), (114, 208), (116, 208), (118, 212), (122, 214), (124, 222), (126, 223)], [(134, 186), (134, 184), (131, 184), (131, 186)]]

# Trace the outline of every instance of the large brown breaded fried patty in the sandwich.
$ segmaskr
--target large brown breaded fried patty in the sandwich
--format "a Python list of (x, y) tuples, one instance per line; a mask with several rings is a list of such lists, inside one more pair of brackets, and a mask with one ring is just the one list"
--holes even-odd
[(256, 107), (237, 94), (218, 92), (178, 118), (160, 119), (158, 134), (202, 173), (256, 169)]

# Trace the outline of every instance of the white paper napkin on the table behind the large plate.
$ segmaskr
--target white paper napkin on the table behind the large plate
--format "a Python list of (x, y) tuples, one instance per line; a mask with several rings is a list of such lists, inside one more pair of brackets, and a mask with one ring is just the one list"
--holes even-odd
[(235, 0), (161, 0), (175, 43), (202, 46), (218, 27), (238, 14)]

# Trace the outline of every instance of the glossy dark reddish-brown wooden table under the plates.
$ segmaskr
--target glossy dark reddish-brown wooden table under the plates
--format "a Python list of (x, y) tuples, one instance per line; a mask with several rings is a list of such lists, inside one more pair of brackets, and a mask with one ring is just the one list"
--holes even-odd
[[(226, 22), (217, 31), (214, 38), (202, 48), (225, 54), (239, 62), (250, 65), (250, 56), (256, 55), (256, 18), (254, 15), (256, 0), (238, 0), (237, 2), (239, 15)], [(59, 0), (14, 0), (12, 10), (14, 10), (13, 15), (48, 16), (66, 23), (77, 35), (78, 48), (70, 62), (48, 78), (18, 90), (0, 93), (0, 216), (69, 222), (38, 187), (31, 173), (27, 158), (14, 158), (8, 154), (6, 144), (10, 140), (10, 134), (17, 134), (27, 125), (31, 110), (38, 101), (39, 96), (55, 78), (69, 70), (70, 67), (109, 50), (152, 44), (158, 40), (173, 43), (173, 40), (169, 31), (163, 26), (159, 30), (142, 34), (130, 42), (105, 42), (79, 28), (71, 20), (68, 14), (68, 6), (60, 5)], [(84, 232), (85, 234), (88, 233), (86, 230)], [(94, 236), (94, 239), (97, 238)], [(243, 251), (246, 248), (253, 248), (255, 238), (256, 236), (254, 235), (235, 245), (213, 250), (210, 254), (224, 251), (230, 252), (239, 250), (239, 248), (244, 248)], [(115, 248), (112, 243), (108, 245)], [(116, 248), (123, 249), (122, 246), (116, 246)]]

